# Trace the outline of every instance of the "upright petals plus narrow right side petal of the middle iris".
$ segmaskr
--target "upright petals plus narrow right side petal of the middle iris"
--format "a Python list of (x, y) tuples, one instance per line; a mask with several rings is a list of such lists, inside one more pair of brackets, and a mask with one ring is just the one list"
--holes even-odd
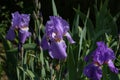
[(50, 20), (46, 23), (45, 32), (49, 39), (53, 39), (54, 37), (52, 35), (55, 33), (56, 39), (59, 40), (62, 39), (63, 36), (66, 36), (71, 43), (75, 43), (71, 38), (71, 35), (68, 33), (68, 30), (69, 24), (59, 16), (50, 16)]

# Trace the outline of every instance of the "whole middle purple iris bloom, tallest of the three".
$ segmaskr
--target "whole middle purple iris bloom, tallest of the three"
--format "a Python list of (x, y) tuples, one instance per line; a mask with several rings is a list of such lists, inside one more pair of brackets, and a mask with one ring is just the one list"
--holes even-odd
[(48, 50), (51, 58), (65, 59), (67, 57), (66, 44), (63, 37), (66, 36), (70, 43), (75, 43), (68, 33), (69, 24), (59, 16), (50, 16), (45, 25), (45, 34), (41, 41), (43, 50)]

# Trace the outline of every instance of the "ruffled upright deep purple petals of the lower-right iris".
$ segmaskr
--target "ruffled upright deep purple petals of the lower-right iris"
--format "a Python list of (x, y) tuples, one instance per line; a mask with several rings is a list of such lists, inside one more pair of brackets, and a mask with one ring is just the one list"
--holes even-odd
[(112, 49), (108, 48), (104, 42), (97, 42), (97, 49), (93, 52), (93, 61), (98, 62), (100, 65), (104, 64), (108, 60), (115, 59), (115, 55)]

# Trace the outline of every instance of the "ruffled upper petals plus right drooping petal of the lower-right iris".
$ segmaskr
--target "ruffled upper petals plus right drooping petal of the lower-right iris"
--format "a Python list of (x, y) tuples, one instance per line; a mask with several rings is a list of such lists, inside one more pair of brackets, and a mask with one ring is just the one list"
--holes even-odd
[(99, 65), (108, 64), (112, 72), (118, 73), (118, 69), (115, 68), (112, 62), (115, 59), (114, 52), (104, 42), (97, 42), (97, 49), (93, 52), (92, 56), (94, 62), (97, 62)]

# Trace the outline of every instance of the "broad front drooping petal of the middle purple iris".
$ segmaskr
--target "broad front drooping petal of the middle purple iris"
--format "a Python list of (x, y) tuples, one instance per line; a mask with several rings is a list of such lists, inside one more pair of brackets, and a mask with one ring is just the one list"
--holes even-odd
[(64, 59), (67, 57), (66, 44), (63, 40), (60, 42), (51, 42), (49, 47), (49, 55), (52, 58)]

